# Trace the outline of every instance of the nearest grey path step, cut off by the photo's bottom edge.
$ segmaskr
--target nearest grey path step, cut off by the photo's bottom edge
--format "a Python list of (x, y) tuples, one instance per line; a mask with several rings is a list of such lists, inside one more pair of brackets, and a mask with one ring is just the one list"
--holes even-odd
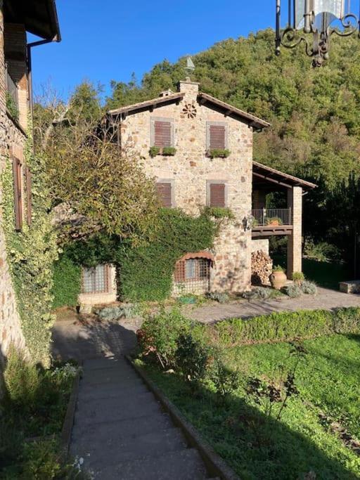
[(95, 479), (104, 480), (204, 480), (207, 472), (195, 448), (141, 458), (94, 470)]

